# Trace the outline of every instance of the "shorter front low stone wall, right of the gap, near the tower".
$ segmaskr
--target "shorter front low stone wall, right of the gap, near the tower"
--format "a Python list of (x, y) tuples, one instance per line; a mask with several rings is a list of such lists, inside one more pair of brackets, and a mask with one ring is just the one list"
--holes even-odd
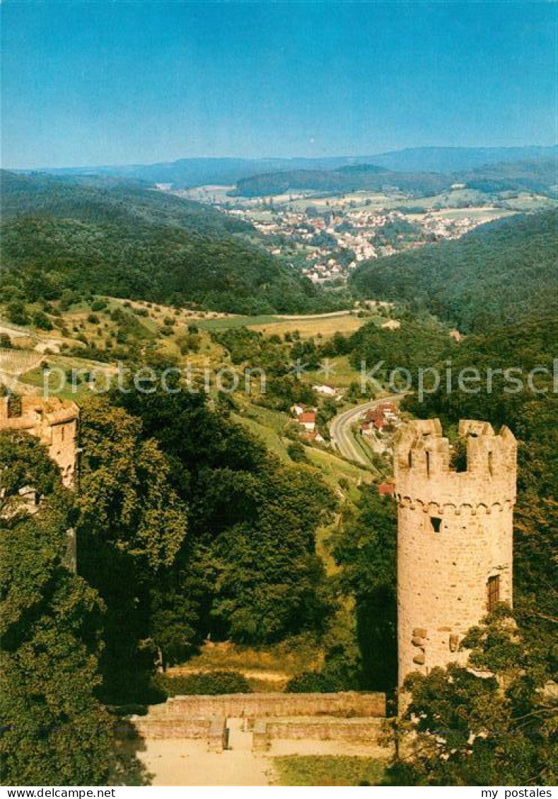
[(377, 744), (380, 733), (380, 718), (259, 719), (253, 725), (252, 748), (265, 752), (278, 740)]

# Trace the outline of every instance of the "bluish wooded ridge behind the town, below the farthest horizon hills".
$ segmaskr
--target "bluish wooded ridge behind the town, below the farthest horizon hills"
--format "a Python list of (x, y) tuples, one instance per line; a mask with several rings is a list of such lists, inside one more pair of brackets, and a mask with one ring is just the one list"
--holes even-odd
[(426, 197), (444, 192), (453, 183), (487, 193), (527, 190), (556, 194), (556, 161), (504, 162), (464, 172), (396, 172), (377, 165), (351, 165), (334, 170), (298, 170), (247, 177), (237, 182), (235, 194), (261, 197), (297, 191), (351, 192), (397, 188)]

